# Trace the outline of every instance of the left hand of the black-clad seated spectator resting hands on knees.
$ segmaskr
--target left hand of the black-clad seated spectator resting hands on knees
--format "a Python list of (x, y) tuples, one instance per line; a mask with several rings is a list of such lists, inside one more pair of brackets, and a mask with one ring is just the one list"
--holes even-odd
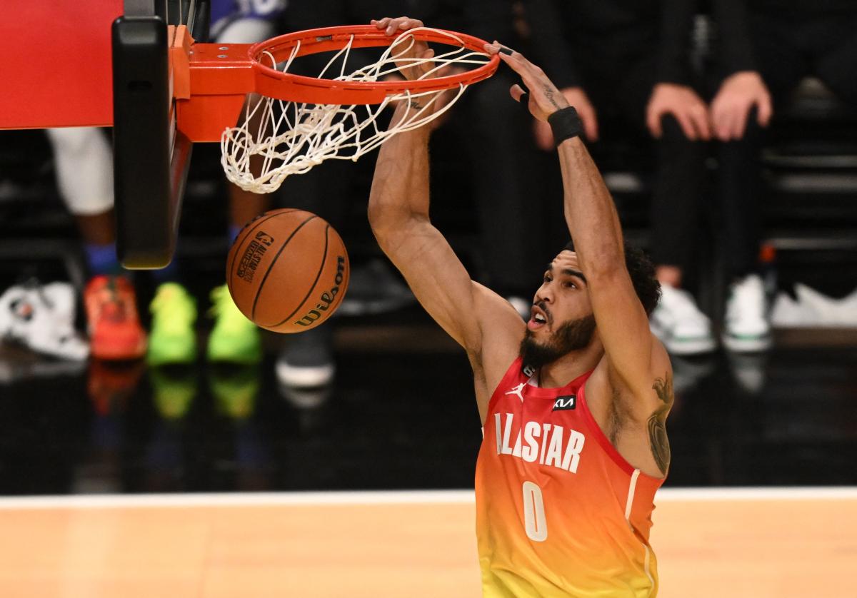
[(690, 87), (658, 83), (652, 89), (645, 119), (646, 126), (656, 139), (662, 135), (661, 118), (666, 114), (675, 117), (687, 139), (707, 141), (711, 138), (708, 108)]

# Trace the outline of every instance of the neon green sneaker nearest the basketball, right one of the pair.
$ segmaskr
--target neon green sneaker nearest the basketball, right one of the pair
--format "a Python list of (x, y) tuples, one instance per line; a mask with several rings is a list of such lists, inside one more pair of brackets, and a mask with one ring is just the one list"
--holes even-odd
[(262, 358), (259, 328), (237, 308), (226, 285), (212, 290), (209, 314), (217, 320), (208, 337), (207, 357), (212, 362), (258, 363)]

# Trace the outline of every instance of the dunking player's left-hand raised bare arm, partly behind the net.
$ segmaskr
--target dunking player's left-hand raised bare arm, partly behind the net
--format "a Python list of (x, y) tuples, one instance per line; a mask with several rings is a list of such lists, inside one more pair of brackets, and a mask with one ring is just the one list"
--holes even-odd
[[(405, 17), (373, 21), (388, 34), (422, 23)], [(416, 57), (431, 57), (423, 43), (415, 44)], [(405, 73), (416, 78), (428, 66)], [(429, 98), (430, 99), (430, 98)], [(411, 99), (396, 108), (393, 123), (417, 111), (428, 99)], [(428, 219), (428, 137), (422, 127), (395, 135), (381, 146), (369, 195), (369, 223), (381, 248), (411, 286), (434, 320), (471, 356), (482, 353), (485, 335), (495, 333), (494, 349), (506, 351), (508, 362), (517, 355), (524, 323), (500, 296), (470, 280), (458, 257)], [(505, 336), (504, 336), (505, 335)], [(474, 362), (476, 365), (476, 363)]]

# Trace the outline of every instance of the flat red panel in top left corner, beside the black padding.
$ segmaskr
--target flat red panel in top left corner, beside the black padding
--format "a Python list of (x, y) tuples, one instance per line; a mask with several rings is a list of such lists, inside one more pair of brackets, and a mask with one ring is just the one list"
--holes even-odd
[(110, 126), (123, 0), (4, 0), (0, 129)]

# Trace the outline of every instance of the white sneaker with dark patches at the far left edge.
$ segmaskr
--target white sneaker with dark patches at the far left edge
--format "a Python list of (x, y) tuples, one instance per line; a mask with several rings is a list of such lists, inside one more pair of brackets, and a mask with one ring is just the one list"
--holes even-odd
[(68, 283), (13, 286), (0, 296), (0, 335), (48, 356), (83, 361), (89, 344), (75, 332), (75, 290)]

